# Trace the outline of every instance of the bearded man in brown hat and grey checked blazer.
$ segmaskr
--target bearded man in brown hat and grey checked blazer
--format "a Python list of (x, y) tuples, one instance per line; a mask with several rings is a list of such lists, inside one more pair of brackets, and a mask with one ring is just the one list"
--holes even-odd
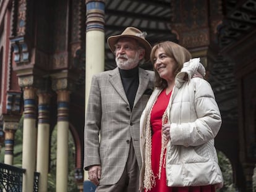
[(154, 78), (153, 72), (139, 68), (150, 60), (151, 46), (144, 35), (128, 27), (121, 35), (110, 36), (108, 45), (117, 67), (92, 78), (85, 118), (84, 169), (97, 185), (97, 192), (139, 191), (139, 121)]

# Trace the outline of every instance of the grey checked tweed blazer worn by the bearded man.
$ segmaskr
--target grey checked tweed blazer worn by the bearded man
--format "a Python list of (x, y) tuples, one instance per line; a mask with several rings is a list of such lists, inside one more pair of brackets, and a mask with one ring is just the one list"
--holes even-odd
[(139, 88), (131, 110), (118, 68), (92, 77), (85, 117), (84, 169), (101, 165), (100, 185), (118, 182), (131, 142), (139, 168), (142, 166), (139, 123), (153, 90), (153, 80), (152, 71), (139, 68)]

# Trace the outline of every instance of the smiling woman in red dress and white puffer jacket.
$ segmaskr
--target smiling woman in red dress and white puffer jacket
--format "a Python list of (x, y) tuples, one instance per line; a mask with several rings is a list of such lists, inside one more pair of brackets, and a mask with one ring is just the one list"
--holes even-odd
[[(214, 138), (221, 115), (200, 59), (171, 41), (151, 51), (155, 90), (140, 119), (145, 191), (213, 192), (223, 185)], [(184, 64), (184, 65), (183, 65)], [(182, 68), (183, 67), (183, 68)]]

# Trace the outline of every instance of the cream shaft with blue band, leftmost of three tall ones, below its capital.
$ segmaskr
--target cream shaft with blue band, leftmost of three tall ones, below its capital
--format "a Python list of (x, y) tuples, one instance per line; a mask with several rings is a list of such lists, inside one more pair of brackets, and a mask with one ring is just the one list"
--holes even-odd
[(23, 120), (23, 146), (22, 168), (23, 174), (22, 191), (33, 192), (35, 158), (36, 158), (36, 93), (35, 88), (23, 88), (24, 120)]

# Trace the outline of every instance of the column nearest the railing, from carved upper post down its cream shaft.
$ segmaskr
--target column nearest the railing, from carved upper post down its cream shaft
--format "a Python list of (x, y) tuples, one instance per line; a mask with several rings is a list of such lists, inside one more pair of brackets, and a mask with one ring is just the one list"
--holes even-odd
[[(12, 4), (12, 34), (13, 48), (12, 70), (19, 78), (19, 86), (23, 90), (23, 145), (22, 168), (25, 169), (22, 180), (22, 191), (33, 192), (33, 180), (36, 163), (36, 48), (33, 12), (35, 1), (20, 0)], [(36, 74), (38, 73), (38, 74)]]

